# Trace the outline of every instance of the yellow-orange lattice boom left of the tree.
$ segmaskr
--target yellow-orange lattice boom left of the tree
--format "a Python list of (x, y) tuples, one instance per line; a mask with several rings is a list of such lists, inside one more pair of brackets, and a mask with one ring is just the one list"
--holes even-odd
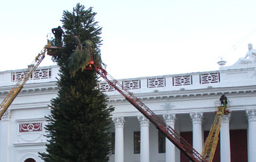
[(43, 59), (45, 58), (46, 51), (47, 51), (47, 46), (45, 46), (43, 50), (41, 50), (41, 52), (37, 55), (33, 63), (31, 63), (31, 65), (29, 65), (27, 70), (24, 72), (23, 76), (19, 78), (19, 81), (17, 81), (16, 85), (9, 91), (5, 99), (3, 99), (3, 101), (0, 104), (0, 120), (3, 114), (5, 113), (5, 111), (9, 108), (11, 103), (17, 97), (21, 89), (23, 89), (23, 86), (25, 85), (27, 80), (29, 80), (29, 78), (31, 77), (35, 69), (37, 69), (41, 61), (43, 61)]

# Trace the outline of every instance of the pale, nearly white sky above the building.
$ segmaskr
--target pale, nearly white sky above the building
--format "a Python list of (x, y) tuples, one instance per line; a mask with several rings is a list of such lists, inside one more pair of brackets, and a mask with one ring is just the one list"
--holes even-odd
[(97, 13), (102, 61), (116, 79), (215, 71), (256, 48), (255, 0), (10, 0), (0, 5), (0, 71), (26, 69), (76, 3)]

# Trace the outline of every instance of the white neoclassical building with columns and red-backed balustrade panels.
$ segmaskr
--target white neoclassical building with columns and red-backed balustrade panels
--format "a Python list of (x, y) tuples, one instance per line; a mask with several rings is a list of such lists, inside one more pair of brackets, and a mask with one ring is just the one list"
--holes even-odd
[[(0, 72), (3, 101), (25, 69)], [(42, 161), (47, 138), (45, 116), (57, 97), (58, 66), (39, 67), (0, 122), (0, 162)], [(201, 153), (215, 118), (221, 95), (229, 100), (223, 116), (213, 161), (255, 162), (256, 69), (254, 63), (235, 63), (217, 71), (203, 71), (118, 80), (166, 124), (172, 126)], [(98, 83), (108, 95), (112, 112), (110, 162), (186, 162), (184, 155), (147, 118), (105, 81)]]

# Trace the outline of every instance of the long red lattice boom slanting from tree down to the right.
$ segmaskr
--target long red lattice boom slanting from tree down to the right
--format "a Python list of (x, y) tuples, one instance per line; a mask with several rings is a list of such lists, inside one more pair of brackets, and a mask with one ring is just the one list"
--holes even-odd
[(125, 99), (130, 102), (135, 108), (137, 108), (150, 122), (152, 122), (158, 130), (160, 130), (166, 138), (168, 138), (176, 147), (178, 147), (185, 155), (190, 158), (193, 162), (207, 162), (200, 153), (193, 149), (190, 143), (186, 142), (180, 134), (176, 133), (174, 129), (164, 122), (160, 117), (158, 117), (148, 106), (146, 106), (140, 99), (132, 95), (122, 84), (120, 84), (116, 79), (111, 77), (106, 73), (105, 69), (102, 69), (100, 65), (95, 65), (94, 61), (89, 61), (87, 69), (95, 69), (97, 73), (106, 80), (108, 84), (116, 89)]

